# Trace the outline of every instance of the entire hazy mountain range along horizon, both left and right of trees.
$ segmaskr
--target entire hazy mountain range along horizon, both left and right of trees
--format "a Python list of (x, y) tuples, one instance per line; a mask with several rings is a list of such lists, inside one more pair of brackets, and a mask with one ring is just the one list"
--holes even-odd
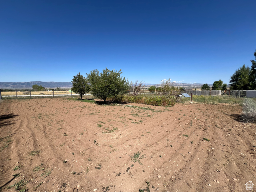
[[(41, 85), (45, 88), (71, 88), (72, 87), (72, 82), (54, 82), (54, 81), (29, 81), (29, 82), (0, 82), (0, 88), (32, 88), (33, 85)], [(145, 83), (145, 87), (151, 87), (151, 86), (156, 86), (160, 87), (162, 84), (150, 84), (150, 83)], [(184, 88), (200, 88), (202, 87), (203, 83), (172, 83), (173, 86), (175, 87), (184, 87)], [(212, 84), (208, 84), (210, 87)], [(228, 86), (229, 87), (229, 84)]]

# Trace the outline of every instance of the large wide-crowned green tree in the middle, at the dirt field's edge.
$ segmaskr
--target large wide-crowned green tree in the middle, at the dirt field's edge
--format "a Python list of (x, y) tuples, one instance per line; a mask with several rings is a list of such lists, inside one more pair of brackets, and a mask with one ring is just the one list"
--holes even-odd
[(97, 69), (87, 74), (87, 80), (90, 86), (90, 92), (97, 98), (103, 99), (106, 103), (108, 97), (124, 94), (129, 90), (130, 83), (125, 77), (121, 77), (121, 69), (119, 71), (113, 69), (103, 69), (100, 73)]

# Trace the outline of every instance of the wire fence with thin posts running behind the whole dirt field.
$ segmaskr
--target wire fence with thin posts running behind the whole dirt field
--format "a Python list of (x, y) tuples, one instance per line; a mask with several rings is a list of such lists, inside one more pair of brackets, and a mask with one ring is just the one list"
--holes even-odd
[[(189, 97), (185, 97), (186, 93)], [(140, 93), (147, 97), (161, 96), (157, 91), (145, 91)], [(85, 95), (90, 95), (89, 93)], [(54, 98), (54, 97), (78, 97), (79, 94), (67, 91), (51, 90), (22, 90), (22, 89), (0, 89), (1, 99), (30, 99), (30, 98)], [(254, 98), (256, 100), (256, 90), (217, 90), (217, 91), (177, 91), (174, 95), (178, 102), (206, 103), (206, 104), (241, 104), (244, 98)], [(80, 96), (79, 96), (80, 97)]]

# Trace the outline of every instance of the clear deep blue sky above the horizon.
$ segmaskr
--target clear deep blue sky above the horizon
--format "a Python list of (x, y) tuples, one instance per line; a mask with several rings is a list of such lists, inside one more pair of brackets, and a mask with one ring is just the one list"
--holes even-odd
[(255, 0), (0, 2), (0, 81), (228, 83), (255, 59)]

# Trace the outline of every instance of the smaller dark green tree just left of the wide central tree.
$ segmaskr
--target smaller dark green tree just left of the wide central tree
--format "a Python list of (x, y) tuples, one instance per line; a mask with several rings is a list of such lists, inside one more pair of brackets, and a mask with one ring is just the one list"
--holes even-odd
[(76, 76), (72, 79), (72, 88), (71, 91), (80, 94), (80, 99), (82, 99), (83, 95), (88, 93), (89, 86), (86, 81), (86, 78), (80, 75), (80, 73), (77, 73)]

